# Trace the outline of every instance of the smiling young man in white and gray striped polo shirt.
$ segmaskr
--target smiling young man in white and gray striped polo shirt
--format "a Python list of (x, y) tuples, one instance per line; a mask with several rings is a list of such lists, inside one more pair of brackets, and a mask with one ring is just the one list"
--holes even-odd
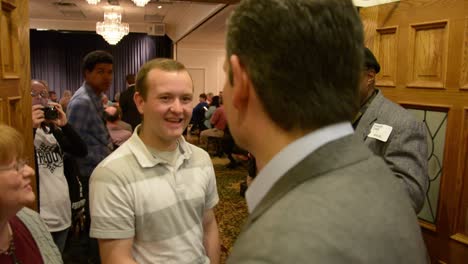
[(182, 137), (193, 108), (189, 73), (152, 60), (137, 75), (134, 99), (142, 124), (91, 179), (91, 236), (102, 262), (218, 263), (213, 165)]

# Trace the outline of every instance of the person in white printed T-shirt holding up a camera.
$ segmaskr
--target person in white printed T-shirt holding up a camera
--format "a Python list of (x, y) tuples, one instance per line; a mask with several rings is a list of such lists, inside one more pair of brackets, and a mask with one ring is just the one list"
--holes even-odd
[(41, 217), (61, 252), (71, 225), (71, 201), (63, 154), (85, 156), (86, 145), (68, 124), (60, 104), (50, 102), (43, 81), (31, 82), (36, 175)]

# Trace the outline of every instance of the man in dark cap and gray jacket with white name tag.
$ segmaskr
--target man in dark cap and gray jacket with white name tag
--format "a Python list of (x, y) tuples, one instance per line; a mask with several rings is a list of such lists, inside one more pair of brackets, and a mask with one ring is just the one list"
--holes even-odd
[(368, 48), (364, 49), (364, 66), (359, 96), (361, 110), (353, 122), (356, 137), (384, 159), (418, 213), (429, 186), (426, 127), (375, 88), (380, 65)]

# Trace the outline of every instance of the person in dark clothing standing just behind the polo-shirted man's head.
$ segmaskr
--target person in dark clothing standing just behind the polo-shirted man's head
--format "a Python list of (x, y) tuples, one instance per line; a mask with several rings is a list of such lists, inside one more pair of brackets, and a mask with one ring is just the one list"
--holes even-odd
[(120, 95), (119, 105), (122, 109), (122, 120), (129, 123), (134, 130), (141, 123), (141, 115), (133, 101), (135, 94), (135, 74), (128, 74), (125, 78), (128, 88)]

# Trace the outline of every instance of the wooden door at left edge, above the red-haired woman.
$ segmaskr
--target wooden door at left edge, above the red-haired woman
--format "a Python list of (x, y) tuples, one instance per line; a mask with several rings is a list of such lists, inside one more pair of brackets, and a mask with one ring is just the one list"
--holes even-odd
[[(26, 158), (34, 165), (31, 120), (28, 0), (0, 0), (0, 122), (25, 138)], [(0, 131), (1, 133), (1, 131)], [(36, 190), (36, 180), (33, 180)], [(36, 205), (31, 205), (37, 208)]]

